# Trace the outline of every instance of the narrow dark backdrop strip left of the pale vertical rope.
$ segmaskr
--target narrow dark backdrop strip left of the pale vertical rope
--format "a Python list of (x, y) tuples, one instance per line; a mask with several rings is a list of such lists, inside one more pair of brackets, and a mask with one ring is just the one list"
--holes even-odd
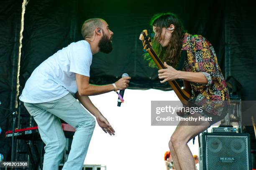
[[(13, 109), (16, 94), (17, 57), (20, 35), (21, 1), (0, 1), (0, 102), (1, 108)], [(5, 119), (10, 111), (0, 109), (0, 153), (4, 156), (10, 151), (9, 141), (4, 132), (10, 129), (12, 117)]]

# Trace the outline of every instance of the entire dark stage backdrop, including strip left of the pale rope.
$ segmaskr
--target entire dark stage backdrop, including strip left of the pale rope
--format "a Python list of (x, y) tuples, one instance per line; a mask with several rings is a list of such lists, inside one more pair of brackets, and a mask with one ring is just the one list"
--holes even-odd
[[(225, 77), (233, 76), (243, 85), (242, 100), (256, 100), (254, 10), (250, 0), (30, 0), (24, 21), (20, 85), (24, 87), (46, 58), (82, 40), (82, 23), (97, 17), (105, 19), (114, 32), (113, 52), (93, 56), (90, 83), (113, 83), (128, 73), (130, 89), (170, 90), (168, 84), (159, 83), (157, 69), (143, 60), (138, 39), (143, 29), (151, 30), (149, 20), (155, 13), (170, 11), (179, 16), (189, 33), (203, 35), (212, 43)], [(9, 109), (15, 101), (20, 13), (21, 1), (0, 1), (0, 101), (1, 107)], [(1, 119), (7, 114), (0, 113)], [(2, 126), (5, 129), (7, 125)]]

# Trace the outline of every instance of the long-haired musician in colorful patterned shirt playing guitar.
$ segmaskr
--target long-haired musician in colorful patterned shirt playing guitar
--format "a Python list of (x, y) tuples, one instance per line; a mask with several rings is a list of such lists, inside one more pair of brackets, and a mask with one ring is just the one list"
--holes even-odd
[[(166, 69), (158, 71), (161, 83), (182, 79), (189, 82), (190, 100), (204, 108), (188, 117), (211, 118), (207, 121), (181, 121), (169, 141), (175, 169), (195, 170), (195, 161), (187, 142), (225, 116), (229, 103), (228, 89), (215, 51), (203, 36), (187, 33), (177, 15), (160, 13), (151, 18), (155, 33), (152, 47)], [(185, 52), (182, 71), (176, 70)], [(150, 62), (152, 64), (152, 62)], [(187, 88), (187, 87), (186, 87)]]

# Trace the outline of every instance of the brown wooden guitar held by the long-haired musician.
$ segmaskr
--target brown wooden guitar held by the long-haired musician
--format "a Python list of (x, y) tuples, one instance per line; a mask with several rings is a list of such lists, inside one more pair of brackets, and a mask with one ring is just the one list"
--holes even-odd
[[(153, 50), (153, 48), (151, 46), (151, 38), (148, 36), (148, 31), (147, 30), (143, 30), (142, 31), (139, 39), (143, 43), (143, 49), (148, 52), (148, 54), (151, 56), (151, 58), (156, 63), (156, 66), (159, 69), (166, 69), (166, 67), (164, 66), (164, 63), (156, 55), (156, 53), (154, 52), (154, 50)], [(168, 81), (168, 83), (172, 87), (172, 89), (174, 90), (175, 94), (178, 96), (180, 101), (183, 104), (187, 105), (188, 100), (189, 100), (189, 98), (191, 96), (191, 87), (190, 87), (189, 82), (188, 81), (184, 81), (184, 89), (181, 89), (179, 84), (175, 80)]]

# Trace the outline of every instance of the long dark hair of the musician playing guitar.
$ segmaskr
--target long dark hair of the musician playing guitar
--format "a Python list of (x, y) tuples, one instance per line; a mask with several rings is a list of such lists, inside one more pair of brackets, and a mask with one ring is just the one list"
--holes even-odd
[[(162, 47), (159, 43), (162, 28), (168, 28), (171, 24), (173, 24), (175, 28), (172, 32), (172, 37), (170, 39), (169, 45), (167, 47)], [(163, 62), (166, 61), (168, 65), (176, 67), (180, 58), (182, 39), (184, 33), (186, 32), (186, 30), (184, 30), (182, 22), (174, 13), (159, 13), (155, 14), (151, 18), (150, 25), (152, 27), (156, 27), (156, 34), (159, 35), (154, 37), (154, 40), (152, 41), (152, 48)], [(145, 54), (144, 57), (147, 61), (149, 61), (149, 66), (156, 67), (156, 64), (148, 54)]]

